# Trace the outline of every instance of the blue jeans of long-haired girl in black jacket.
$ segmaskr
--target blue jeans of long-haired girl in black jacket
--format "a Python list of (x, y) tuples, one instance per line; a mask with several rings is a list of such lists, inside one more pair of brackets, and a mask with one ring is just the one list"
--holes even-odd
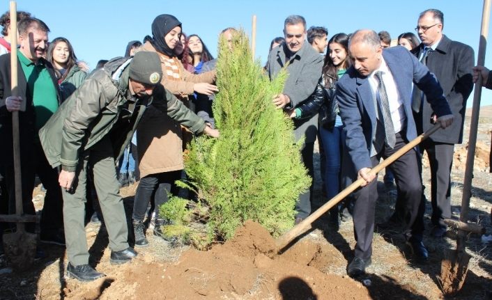
[(328, 199), (340, 191), (341, 143), (344, 136), (342, 126), (335, 126), (333, 131), (319, 127), (319, 135), (325, 150), (325, 189)]

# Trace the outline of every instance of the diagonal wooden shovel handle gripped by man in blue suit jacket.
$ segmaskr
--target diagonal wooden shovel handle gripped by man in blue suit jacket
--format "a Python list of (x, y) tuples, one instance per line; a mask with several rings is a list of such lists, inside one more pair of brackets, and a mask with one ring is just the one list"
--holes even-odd
[[(369, 174), (374, 174), (376, 175), (379, 171), (383, 170), (383, 168), (386, 168), (390, 164), (392, 164), (393, 161), (399, 159), (401, 155), (404, 155), (406, 152), (408, 152), (410, 149), (414, 148), (416, 145), (420, 144), (424, 139), (427, 139), (431, 134), (436, 132), (440, 128), (439, 124), (434, 125), (431, 129), (427, 130), (423, 134), (420, 134), (420, 136), (417, 136), (415, 139), (410, 141), (408, 144), (404, 145), (403, 147), (400, 148), (397, 152), (394, 152), (393, 155), (388, 157), (387, 159), (383, 160), (380, 164), (375, 166), (374, 168), (371, 168), (371, 171), (369, 171)], [(316, 221), (320, 216), (322, 216), (325, 212), (328, 212), (330, 208), (334, 207), (339, 203), (341, 200), (343, 200), (348, 194), (351, 194), (355, 189), (358, 189), (362, 184), (364, 184), (366, 181), (362, 178), (359, 178), (355, 182), (353, 182), (351, 185), (346, 187), (343, 191), (341, 191), (337, 196), (333, 197), (325, 203), (323, 206), (319, 207), (318, 210), (310, 214), (306, 219), (304, 219), (302, 222), (298, 223), (298, 225), (294, 226), (291, 230), (286, 232), (282, 237), (279, 237), (276, 242), (277, 246), (277, 253), (281, 253), (286, 248), (289, 248), (291, 244), (293, 244), (293, 240), (298, 237), (301, 233), (305, 232), (311, 224)]]

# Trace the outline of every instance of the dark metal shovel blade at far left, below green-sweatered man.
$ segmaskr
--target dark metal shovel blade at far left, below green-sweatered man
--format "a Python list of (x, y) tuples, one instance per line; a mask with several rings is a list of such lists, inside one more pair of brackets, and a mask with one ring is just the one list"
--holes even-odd
[(14, 269), (26, 271), (33, 264), (36, 255), (36, 235), (23, 230), (4, 234), (3, 250)]

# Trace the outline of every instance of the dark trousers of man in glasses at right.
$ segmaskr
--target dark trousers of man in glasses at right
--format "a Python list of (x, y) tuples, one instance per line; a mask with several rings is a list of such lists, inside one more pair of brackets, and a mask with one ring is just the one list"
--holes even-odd
[[(434, 226), (446, 228), (444, 219), (451, 218), (451, 167), (454, 144), (426, 140), (420, 144), (420, 151), (423, 153), (424, 150), (431, 166), (431, 221)], [(424, 193), (422, 198), (425, 202)]]

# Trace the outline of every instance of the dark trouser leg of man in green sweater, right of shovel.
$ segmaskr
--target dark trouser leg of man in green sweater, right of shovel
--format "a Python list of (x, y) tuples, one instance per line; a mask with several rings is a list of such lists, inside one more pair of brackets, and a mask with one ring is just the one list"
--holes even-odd
[(40, 144), (33, 145), (35, 172), (46, 189), (45, 204), (41, 214), (41, 234), (50, 234), (63, 228), (63, 197), (58, 182), (58, 170), (49, 165)]

